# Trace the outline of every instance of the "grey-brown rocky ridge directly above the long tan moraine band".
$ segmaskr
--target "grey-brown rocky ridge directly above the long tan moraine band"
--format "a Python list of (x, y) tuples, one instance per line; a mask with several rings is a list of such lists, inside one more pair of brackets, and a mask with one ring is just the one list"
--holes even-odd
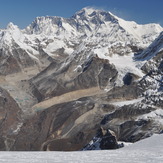
[[(117, 70), (108, 60), (92, 57), (83, 63), (80, 72), (73, 71), (76, 69), (74, 62), (74, 60), (71, 61), (63, 69), (59, 69), (59, 67), (62, 67), (64, 63), (55, 66), (55, 63), (51, 64), (40, 75), (33, 78), (31, 84), (41, 93), (42, 97), (46, 98), (90, 87), (103, 89), (108, 83), (113, 85), (116, 80)], [(52, 69), (51, 67), (54, 68), (53, 73), (47, 75), (48, 71)], [(51, 88), (51, 84), (53, 84), (53, 88)]]

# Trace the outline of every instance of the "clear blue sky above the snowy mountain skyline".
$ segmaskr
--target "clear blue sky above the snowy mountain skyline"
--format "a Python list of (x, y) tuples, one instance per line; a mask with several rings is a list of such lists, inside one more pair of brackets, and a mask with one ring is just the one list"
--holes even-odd
[(0, 0), (0, 28), (9, 22), (25, 28), (37, 16), (70, 17), (86, 6), (102, 8), (137, 23), (163, 26), (163, 0)]

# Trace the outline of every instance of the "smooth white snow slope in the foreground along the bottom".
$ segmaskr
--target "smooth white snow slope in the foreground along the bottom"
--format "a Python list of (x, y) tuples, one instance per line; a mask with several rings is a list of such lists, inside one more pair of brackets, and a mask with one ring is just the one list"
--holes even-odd
[(154, 135), (119, 150), (87, 152), (1, 152), (3, 163), (45, 162), (113, 162), (113, 163), (162, 163), (163, 134)]

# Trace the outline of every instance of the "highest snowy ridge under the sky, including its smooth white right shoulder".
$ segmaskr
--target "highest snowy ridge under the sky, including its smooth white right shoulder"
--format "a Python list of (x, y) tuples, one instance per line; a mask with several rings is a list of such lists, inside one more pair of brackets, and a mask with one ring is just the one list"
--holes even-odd
[[(160, 33), (163, 28), (159, 24), (139, 25), (133, 21), (125, 21), (111, 12), (99, 10), (91, 7), (83, 8), (76, 12), (71, 18), (54, 16), (37, 17), (34, 22), (27, 27), (27, 33), (35, 34), (56, 34), (63, 35), (69, 33), (75, 36), (87, 35), (94, 31), (105, 33), (103, 26), (110, 28), (110, 23), (118, 24), (129, 35), (138, 41), (144, 39), (144, 43), (153, 41), (155, 35)], [(97, 30), (98, 29), (98, 30)]]

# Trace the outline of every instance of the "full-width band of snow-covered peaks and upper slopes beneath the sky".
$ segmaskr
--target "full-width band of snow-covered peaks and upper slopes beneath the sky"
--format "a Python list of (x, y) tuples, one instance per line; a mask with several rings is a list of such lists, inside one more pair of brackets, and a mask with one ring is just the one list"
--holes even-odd
[(158, 24), (138, 25), (108, 11), (86, 7), (70, 18), (37, 17), (23, 30), (9, 23), (0, 31), (0, 47), (11, 53), (19, 47), (32, 60), (41, 58), (40, 49), (47, 56), (62, 59), (72, 53), (77, 54), (75, 50), (84, 42), (92, 53), (102, 54), (105, 58), (144, 49), (161, 31), (163, 28)]

